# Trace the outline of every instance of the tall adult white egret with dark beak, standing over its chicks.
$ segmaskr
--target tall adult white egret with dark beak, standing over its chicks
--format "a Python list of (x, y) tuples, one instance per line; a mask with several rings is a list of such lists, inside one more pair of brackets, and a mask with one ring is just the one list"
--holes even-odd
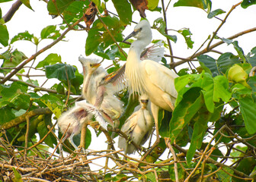
[[(174, 79), (178, 77), (174, 71), (162, 64), (146, 59), (140, 60), (142, 50), (149, 45), (152, 40), (152, 31), (147, 20), (141, 20), (134, 27), (133, 33), (127, 36), (136, 37), (136, 41), (130, 46), (126, 60), (125, 77), (128, 80), (130, 93), (146, 93), (151, 101), (152, 115), (155, 120), (156, 141), (152, 149), (159, 143), (158, 133), (158, 110), (163, 108), (167, 111), (174, 110), (174, 103), (178, 93), (174, 87)], [(151, 150), (149, 150), (150, 152)]]

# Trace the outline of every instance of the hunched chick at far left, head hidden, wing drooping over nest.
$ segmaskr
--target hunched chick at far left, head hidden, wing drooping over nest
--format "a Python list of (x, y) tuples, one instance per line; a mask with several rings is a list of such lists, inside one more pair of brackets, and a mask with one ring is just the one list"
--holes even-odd
[[(107, 129), (107, 122), (104, 121), (98, 108), (95, 108), (94, 105), (88, 104), (86, 102), (77, 102), (75, 106), (70, 108), (68, 111), (63, 112), (58, 119), (58, 126), (62, 133), (66, 131), (66, 136), (63, 138), (62, 142), (69, 138), (69, 143), (74, 146), (76, 150), (78, 147), (73, 141), (73, 137), (80, 133), (82, 124), (85, 121), (88, 121), (94, 115), (96, 121), (101, 124), (102, 127)], [(60, 149), (62, 147), (60, 146)]]

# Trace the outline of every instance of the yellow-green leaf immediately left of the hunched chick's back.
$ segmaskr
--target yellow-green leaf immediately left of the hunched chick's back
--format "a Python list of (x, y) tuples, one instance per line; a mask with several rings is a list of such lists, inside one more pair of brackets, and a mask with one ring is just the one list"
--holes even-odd
[(63, 102), (58, 97), (45, 94), (41, 96), (40, 101), (43, 102), (50, 110), (56, 115), (56, 118), (62, 114), (62, 108), (64, 107)]

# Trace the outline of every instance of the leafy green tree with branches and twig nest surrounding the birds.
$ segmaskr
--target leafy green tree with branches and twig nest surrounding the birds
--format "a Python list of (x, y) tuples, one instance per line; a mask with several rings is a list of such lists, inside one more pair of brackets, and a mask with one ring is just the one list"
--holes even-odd
[[(4, 5), (10, 0), (1, 2)], [(215, 1), (210, 0), (178, 0), (174, 3), (171, 0), (43, 2), (49, 16), (61, 17), (61, 22), (44, 27), (40, 36), (34, 36), (30, 30), (9, 36), (11, 30), (6, 23), (15, 18), (13, 16), (20, 11), (21, 5), (34, 11), (30, 1), (13, 1), (6, 14), (2, 14), (0, 8), (0, 180), (255, 180), (256, 46), (245, 53), (237, 38), (250, 36), (256, 27), (252, 23), (250, 29), (227, 37), (219, 36), (219, 31), (226, 29), (235, 8), (242, 7), (246, 11), (256, 1), (230, 2), (229, 8), (223, 10), (213, 9)], [(210, 32), (196, 49), (194, 42), (198, 40), (194, 39), (190, 27), (168, 29), (168, 19), (175, 17), (167, 14), (178, 7), (204, 11), (208, 20), (219, 20), (216, 30)], [(62, 41), (69, 43), (67, 33), (82, 31), (87, 34), (85, 44), (77, 46), (85, 48), (83, 53), (86, 56), (97, 55), (103, 64), (111, 62), (106, 68), (107, 73), (115, 73), (126, 61), (126, 51), (130, 48), (130, 44), (122, 42), (123, 30), (130, 24), (134, 26), (133, 15), (138, 11), (142, 18), (147, 18), (149, 12), (161, 14), (162, 17), (155, 16), (152, 20), (152, 30), (160, 35), (157, 39), (153, 37), (152, 43), (164, 40), (166, 52), (160, 64), (180, 76), (175, 79), (178, 98), (174, 111), (159, 111), (160, 143), (147, 156), (148, 148), (136, 146), (139, 158), (124, 155), (114, 145), (111, 133), (117, 133), (115, 137), (121, 135), (120, 128), (138, 105), (137, 99), (129, 97), (127, 89), (123, 89), (117, 94), (125, 110), (119, 118), (119, 128), (109, 126), (104, 130), (91, 121), (86, 125), (85, 138), (75, 137), (75, 143), (85, 140), (85, 149), (90, 149), (91, 143), (98, 140), (91, 137), (91, 132), (97, 136), (104, 135), (110, 148), (88, 150), (84, 154), (74, 152), (66, 141), (64, 149), (70, 156), (62, 161), (56, 155), (59, 153), (59, 140), (63, 137), (56, 130), (57, 119), (75, 102), (82, 100), (83, 75), (78, 67), (66, 64), (62, 55), (51, 50)], [(248, 20), (250, 18), (253, 19), (248, 17)], [(49, 44), (40, 49), (40, 44), (46, 39)], [(15, 42), (24, 45), (30, 42), (36, 47), (36, 52), (27, 57), (24, 52), (13, 49)], [(187, 58), (181, 58), (173, 52), (176, 42), (184, 42), (187, 51), (195, 51)], [(232, 52), (223, 51), (228, 46)], [(70, 54), (72, 49), (75, 48), (70, 48)], [(50, 53), (46, 54), (47, 51)], [(39, 61), (37, 57), (41, 54), (46, 55)], [(182, 68), (177, 69), (178, 66)], [(161, 158), (166, 151), (170, 154)], [(97, 158), (109, 162), (98, 164), (102, 168), (93, 171), (88, 164), (97, 163)]]

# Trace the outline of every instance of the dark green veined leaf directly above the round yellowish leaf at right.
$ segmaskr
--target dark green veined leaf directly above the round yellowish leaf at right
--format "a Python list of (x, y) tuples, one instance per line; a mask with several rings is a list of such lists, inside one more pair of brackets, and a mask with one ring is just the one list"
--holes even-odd
[(229, 67), (232, 67), (234, 64), (240, 63), (238, 56), (233, 55), (231, 52), (226, 52), (219, 56), (217, 64), (219, 71), (222, 74), (225, 74)]

